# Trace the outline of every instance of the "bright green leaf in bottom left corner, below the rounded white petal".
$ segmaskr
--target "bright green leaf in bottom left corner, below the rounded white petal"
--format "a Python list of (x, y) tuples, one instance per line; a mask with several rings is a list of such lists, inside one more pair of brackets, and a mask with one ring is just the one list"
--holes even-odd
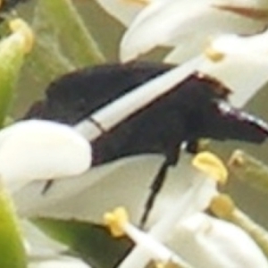
[(0, 185), (0, 267), (24, 268), (26, 256), (13, 202)]

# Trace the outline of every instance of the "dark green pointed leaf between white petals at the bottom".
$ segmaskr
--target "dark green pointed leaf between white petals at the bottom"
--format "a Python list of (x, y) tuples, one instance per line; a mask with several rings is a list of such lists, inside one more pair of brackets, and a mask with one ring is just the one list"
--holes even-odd
[(129, 239), (114, 239), (104, 226), (89, 222), (42, 218), (34, 223), (97, 268), (115, 267), (132, 246)]

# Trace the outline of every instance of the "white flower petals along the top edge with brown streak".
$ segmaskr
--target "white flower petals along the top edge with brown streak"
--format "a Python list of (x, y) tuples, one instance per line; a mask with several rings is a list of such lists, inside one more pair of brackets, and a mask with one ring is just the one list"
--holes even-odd
[(182, 62), (199, 54), (208, 38), (222, 33), (255, 34), (268, 24), (268, 4), (264, 0), (154, 0), (147, 1), (139, 13), (133, 6), (140, 1), (98, 1), (130, 25), (121, 41), (123, 62), (157, 46), (175, 47), (167, 59), (175, 56)]

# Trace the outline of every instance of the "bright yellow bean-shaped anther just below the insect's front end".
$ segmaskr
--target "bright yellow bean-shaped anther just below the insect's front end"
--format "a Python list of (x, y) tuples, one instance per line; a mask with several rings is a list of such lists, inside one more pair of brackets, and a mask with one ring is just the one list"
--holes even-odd
[(210, 178), (221, 184), (226, 183), (228, 172), (222, 160), (210, 152), (202, 152), (196, 155), (192, 161), (199, 171), (205, 172)]

